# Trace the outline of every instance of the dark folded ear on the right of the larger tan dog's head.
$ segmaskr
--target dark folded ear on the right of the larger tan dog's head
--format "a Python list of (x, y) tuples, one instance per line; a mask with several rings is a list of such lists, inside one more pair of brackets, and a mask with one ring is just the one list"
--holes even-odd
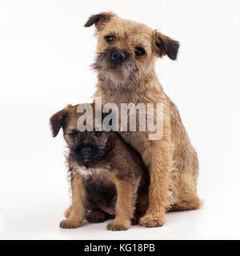
[(154, 33), (154, 45), (158, 57), (167, 55), (170, 59), (175, 60), (178, 56), (179, 42), (156, 30)]

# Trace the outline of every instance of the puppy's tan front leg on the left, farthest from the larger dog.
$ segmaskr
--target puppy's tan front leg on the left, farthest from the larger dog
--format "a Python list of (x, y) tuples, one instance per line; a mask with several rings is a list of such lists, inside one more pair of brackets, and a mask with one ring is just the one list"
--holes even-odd
[(82, 184), (82, 178), (77, 173), (71, 174), (72, 205), (68, 218), (60, 222), (62, 229), (75, 229), (82, 226), (86, 214), (85, 200), (86, 193)]

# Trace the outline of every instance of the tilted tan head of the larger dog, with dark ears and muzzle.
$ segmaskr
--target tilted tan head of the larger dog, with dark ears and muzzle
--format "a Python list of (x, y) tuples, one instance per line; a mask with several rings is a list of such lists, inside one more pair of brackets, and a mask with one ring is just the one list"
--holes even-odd
[(141, 23), (101, 13), (91, 16), (85, 24), (92, 25), (98, 38), (93, 66), (103, 82), (127, 86), (130, 81), (145, 80), (154, 69), (156, 57), (177, 58), (177, 41)]

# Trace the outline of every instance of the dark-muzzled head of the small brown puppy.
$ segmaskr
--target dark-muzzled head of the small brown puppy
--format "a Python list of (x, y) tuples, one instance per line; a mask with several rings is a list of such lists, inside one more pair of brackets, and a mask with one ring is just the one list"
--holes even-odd
[[(94, 105), (90, 104), (93, 106)], [(70, 162), (84, 169), (94, 166), (108, 150), (109, 134), (105, 131), (78, 130), (78, 118), (82, 114), (77, 113), (78, 105), (66, 106), (50, 118), (50, 126), (54, 137), (62, 128), (63, 136), (70, 148)]]

